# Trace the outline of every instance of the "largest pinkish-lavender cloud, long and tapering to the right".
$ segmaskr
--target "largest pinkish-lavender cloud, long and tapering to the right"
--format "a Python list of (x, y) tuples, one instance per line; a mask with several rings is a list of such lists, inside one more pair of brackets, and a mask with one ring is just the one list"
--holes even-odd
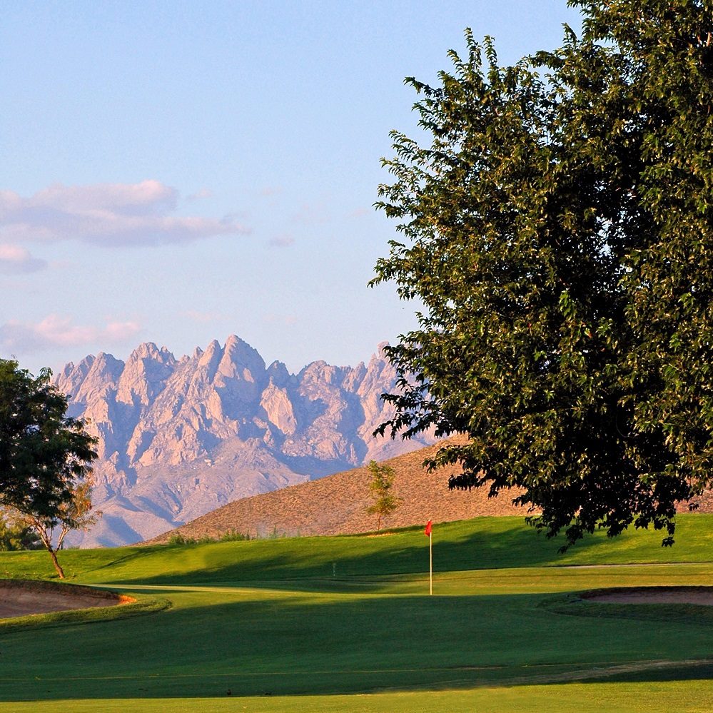
[(145, 246), (248, 232), (234, 216), (171, 215), (178, 198), (175, 188), (160, 181), (57, 184), (31, 198), (0, 191), (0, 241), (78, 240), (101, 246)]

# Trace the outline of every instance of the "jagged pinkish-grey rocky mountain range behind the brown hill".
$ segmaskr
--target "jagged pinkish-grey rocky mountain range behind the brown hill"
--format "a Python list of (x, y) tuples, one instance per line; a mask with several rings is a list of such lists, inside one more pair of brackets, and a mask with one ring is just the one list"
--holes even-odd
[(55, 383), (98, 438), (105, 513), (81, 545), (153, 537), (236, 498), (433, 443), (373, 438), (394, 378), (381, 351), (367, 365), (318, 360), (290, 374), (236, 335), (178, 359), (147, 342), (126, 363), (99, 353), (68, 364)]

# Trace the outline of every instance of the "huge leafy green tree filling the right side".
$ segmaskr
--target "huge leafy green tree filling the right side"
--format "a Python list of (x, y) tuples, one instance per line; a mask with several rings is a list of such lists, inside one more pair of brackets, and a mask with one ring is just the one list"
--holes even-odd
[(499, 66), (466, 33), (430, 133), (394, 132), (378, 261), (420, 300), (381, 432), (466, 433), (451, 487), (522, 487), (569, 542), (653, 525), (713, 480), (713, 4), (571, 0), (582, 32)]

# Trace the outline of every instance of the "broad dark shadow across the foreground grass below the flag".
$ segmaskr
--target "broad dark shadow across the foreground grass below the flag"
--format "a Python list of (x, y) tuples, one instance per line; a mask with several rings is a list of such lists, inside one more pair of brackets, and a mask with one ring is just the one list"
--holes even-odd
[(562, 616), (540, 595), (172, 598), (156, 617), (0, 632), (0, 699), (366, 693), (711, 672), (692, 659), (709, 655), (713, 622), (671, 621), (663, 610), (655, 626), (642, 626)]

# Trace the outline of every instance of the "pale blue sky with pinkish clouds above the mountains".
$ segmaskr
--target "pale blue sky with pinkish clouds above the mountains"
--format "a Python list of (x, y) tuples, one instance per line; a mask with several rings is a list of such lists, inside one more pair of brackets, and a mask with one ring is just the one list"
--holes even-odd
[(490, 35), (560, 46), (565, 0), (23, 0), (0, 17), (0, 358), (61, 369), (230, 334), (290, 371), (416, 325), (368, 288), (389, 132)]

